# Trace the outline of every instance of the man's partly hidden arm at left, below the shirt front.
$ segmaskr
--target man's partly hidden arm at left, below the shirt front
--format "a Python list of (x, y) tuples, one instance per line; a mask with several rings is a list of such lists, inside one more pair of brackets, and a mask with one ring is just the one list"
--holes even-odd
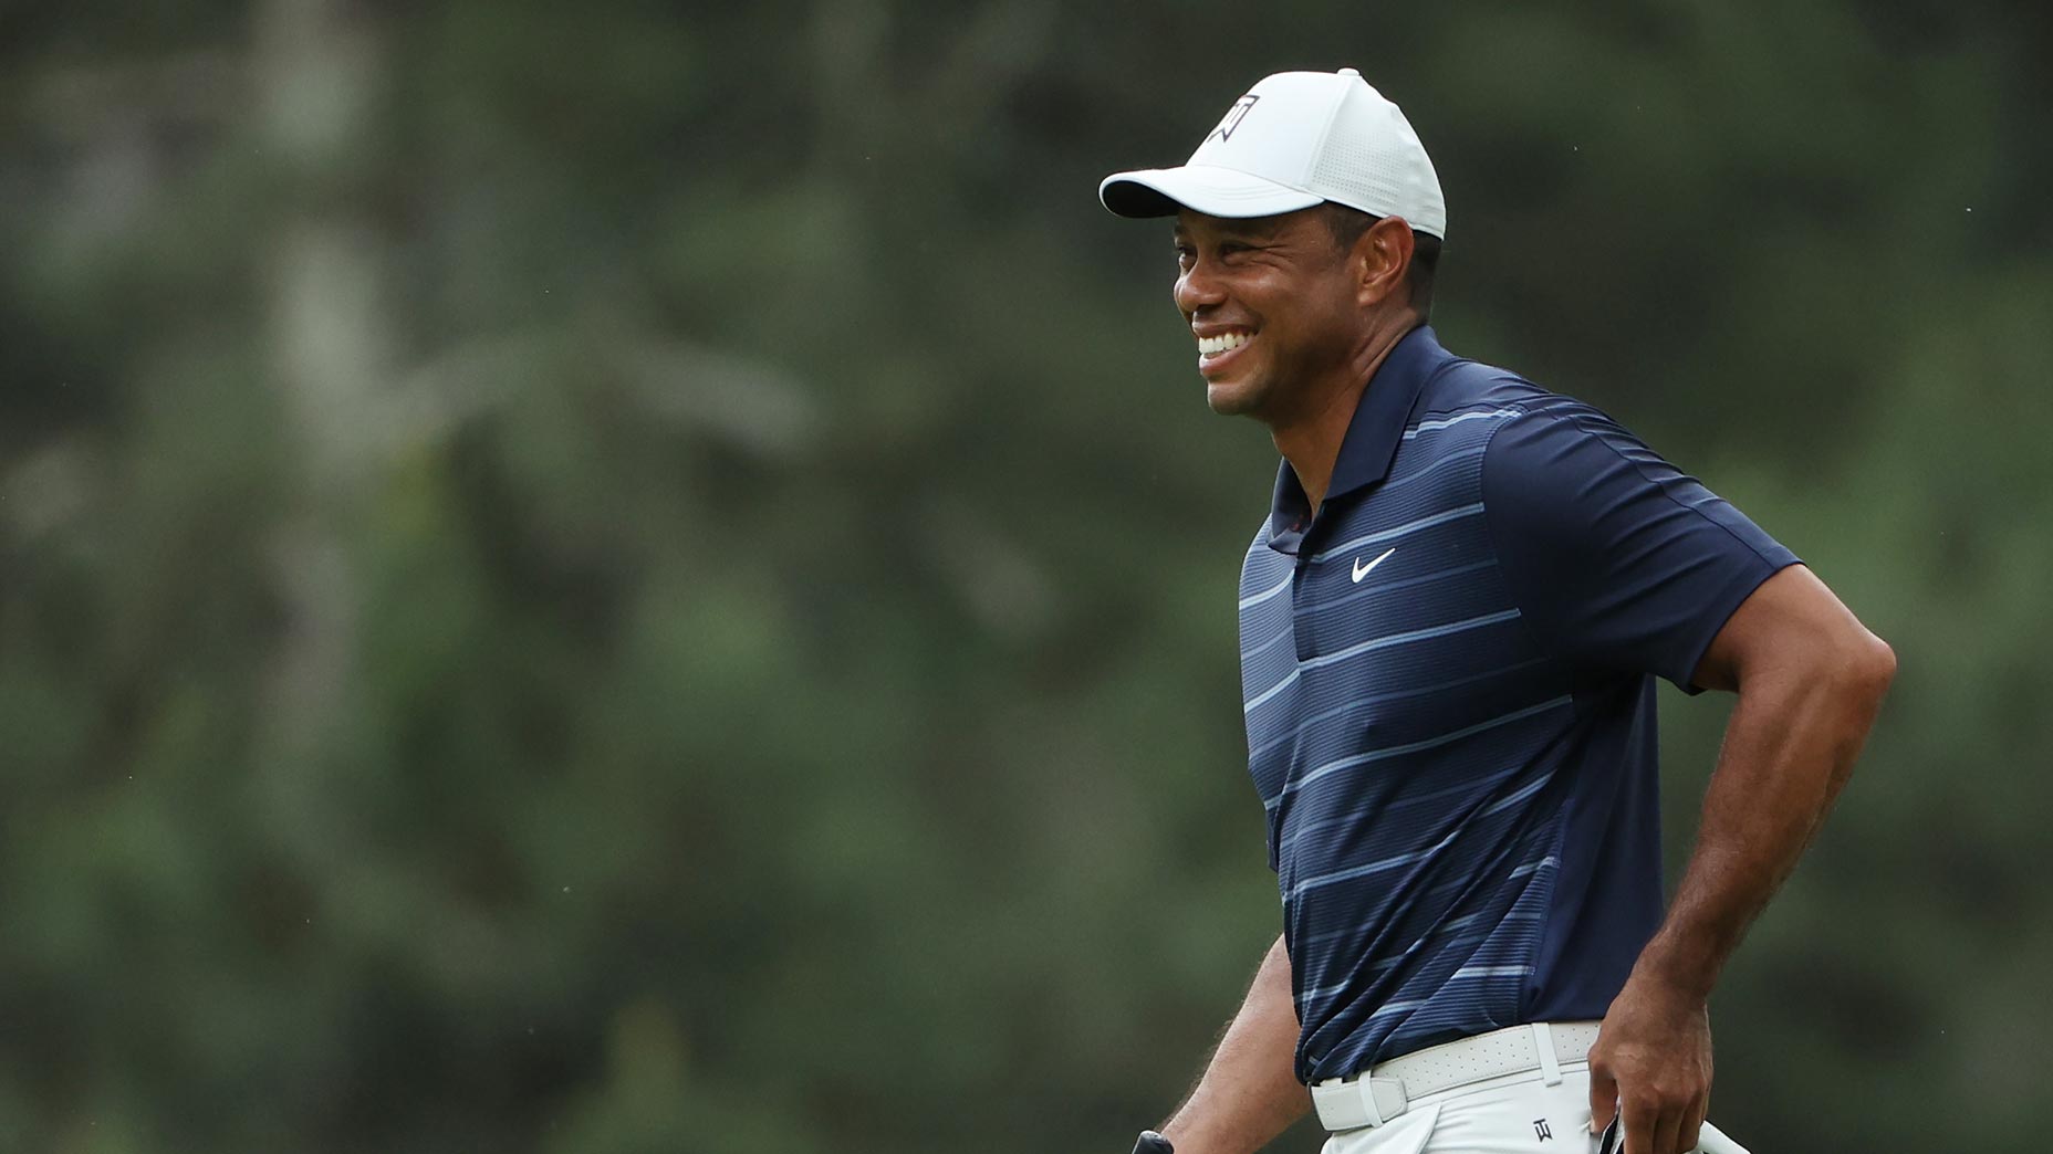
[(1226, 1037), (1211, 1053), (1205, 1076), (1176, 1117), (1162, 1123), (1176, 1154), (1252, 1154), (1283, 1133), (1312, 1107), (1297, 1082), (1297, 1006), (1289, 994), (1289, 953), (1283, 938), (1254, 971)]

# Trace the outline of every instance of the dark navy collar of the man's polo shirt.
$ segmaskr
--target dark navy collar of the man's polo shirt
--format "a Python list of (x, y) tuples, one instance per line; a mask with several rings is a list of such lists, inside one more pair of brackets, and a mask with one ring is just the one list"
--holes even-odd
[[(1347, 423), (1347, 435), (1341, 437), (1341, 456), (1334, 458), (1332, 480), (1326, 485), (1328, 503), (1390, 476), (1390, 462), (1398, 456), (1404, 421), (1410, 419), (1419, 392), (1451, 359), (1456, 355), (1439, 345), (1431, 324), (1421, 324), (1398, 339), (1369, 378)], [(1277, 489), (1269, 507), (1269, 548), (1295, 554), (1310, 528), (1312, 503), (1297, 485), (1297, 470), (1285, 460), (1277, 466)]]

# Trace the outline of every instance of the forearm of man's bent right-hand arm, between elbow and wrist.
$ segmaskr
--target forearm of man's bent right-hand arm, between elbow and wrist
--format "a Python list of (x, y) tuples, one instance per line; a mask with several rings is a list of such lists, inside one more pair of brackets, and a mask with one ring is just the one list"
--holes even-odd
[(1696, 850), (1636, 977), (1710, 996), (1854, 770), (1895, 669), (1874, 645), (1823, 667), (1764, 669), (1739, 686)]

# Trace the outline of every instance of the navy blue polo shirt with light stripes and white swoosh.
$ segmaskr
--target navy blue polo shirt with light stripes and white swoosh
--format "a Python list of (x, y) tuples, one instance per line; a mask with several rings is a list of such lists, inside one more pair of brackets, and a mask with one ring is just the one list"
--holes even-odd
[(1240, 577), (1302, 1080), (1603, 1016), (1661, 918), (1653, 678), (1794, 563), (1589, 405), (1390, 351)]

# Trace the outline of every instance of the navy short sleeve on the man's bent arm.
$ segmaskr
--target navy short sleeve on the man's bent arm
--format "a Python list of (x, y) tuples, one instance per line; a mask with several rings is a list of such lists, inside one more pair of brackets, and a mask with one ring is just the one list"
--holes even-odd
[(1519, 614), (1550, 655), (1659, 674), (1692, 694), (1733, 610), (1796, 565), (1745, 513), (1583, 405), (1497, 429), (1482, 507)]

